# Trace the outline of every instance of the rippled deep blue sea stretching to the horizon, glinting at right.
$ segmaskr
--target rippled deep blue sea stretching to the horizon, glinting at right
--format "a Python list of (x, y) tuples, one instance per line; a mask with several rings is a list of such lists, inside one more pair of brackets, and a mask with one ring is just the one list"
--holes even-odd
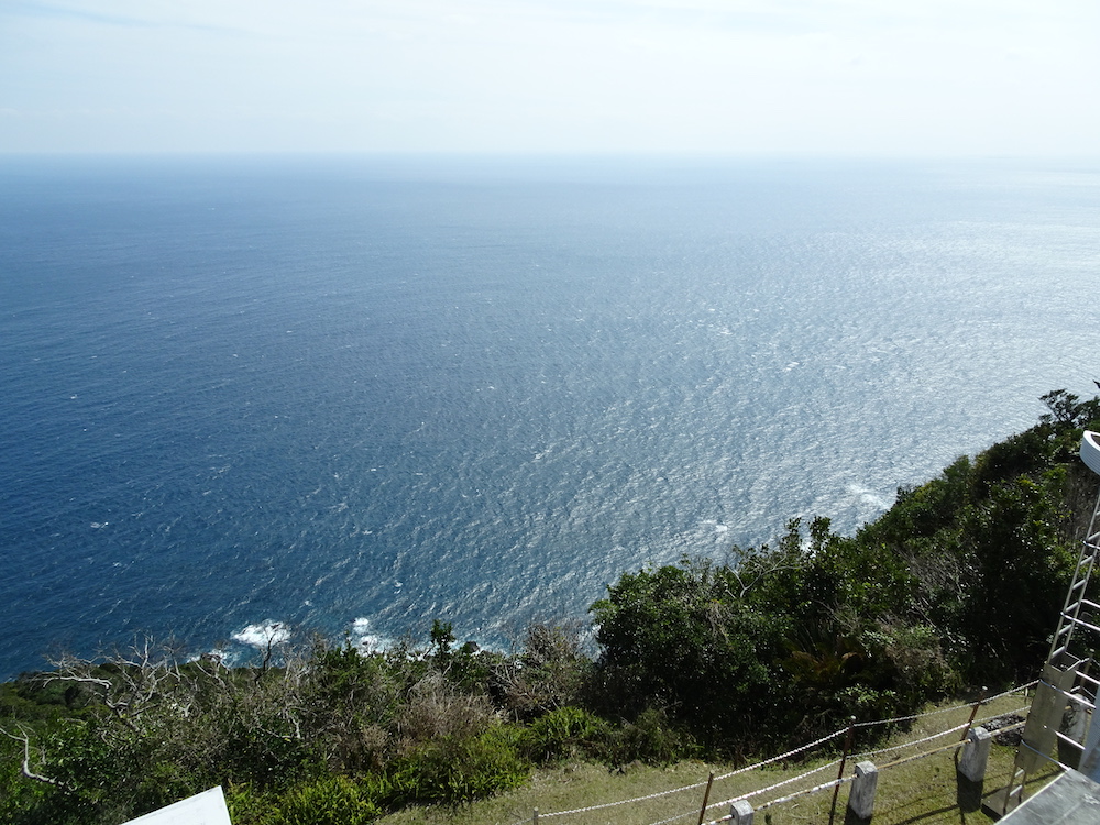
[(1091, 397), (1098, 284), (1100, 164), (0, 161), (0, 678), (851, 532)]

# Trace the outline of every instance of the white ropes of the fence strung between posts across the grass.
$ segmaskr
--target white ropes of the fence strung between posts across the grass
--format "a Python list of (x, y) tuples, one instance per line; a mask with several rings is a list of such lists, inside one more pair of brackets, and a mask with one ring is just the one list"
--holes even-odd
[[(923, 718), (927, 718), (927, 717), (932, 717), (932, 716), (938, 716), (938, 715), (943, 715), (943, 714), (947, 714), (947, 713), (957, 713), (957, 712), (964, 711), (966, 708), (971, 708), (975, 712), (971, 715), (970, 721), (967, 722), (967, 723), (964, 723), (964, 724), (960, 724), (960, 725), (954, 725), (954, 726), (952, 726), (952, 727), (949, 727), (949, 728), (947, 728), (945, 730), (941, 730), (941, 732), (931, 734), (931, 735), (922, 737), (920, 739), (914, 739), (913, 741), (902, 743), (900, 745), (893, 745), (893, 746), (890, 746), (890, 747), (887, 747), (887, 748), (879, 748), (877, 750), (869, 750), (869, 751), (865, 751), (865, 752), (861, 752), (861, 754), (854, 754), (854, 755), (846, 752), (845, 758), (849, 759), (849, 760), (853, 760), (853, 761), (856, 761), (856, 760), (866, 760), (866, 759), (871, 759), (871, 758), (875, 758), (875, 757), (882, 757), (882, 756), (886, 756), (886, 755), (895, 754), (897, 751), (901, 751), (901, 750), (904, 750), (906, 748), (914, 748), (914, 747), (920, 747), (922, 745), (926, 745), (928, 743), (935, 741), (936, 739), (941, 739), (941, 738), (943, 738), (945, 736), (950, 736), (953, 734), (957, 735), (959, 732), (968, 730), (971, 727), (977, 727), (979, 725), (982, 725), (985, 723), (991, 722), (993, 719), (997, 719), (997, 718), (1000, 718), (1000, 717), (1003, 717), (1003, 716), (1019, 715), (1021, 713), (1024, 713), (1024, 712), (1027, 711), (1026, 706), (1020, 707), (1020, 708), (1015, 708), (1013, 711), (1002, 712), (1002, 713), (994, 714), (994, 715), (991, 715), (991, 716), (986, 716), (986, 717), (982, 717), (980, 719), (976, 718), (977, 711), (980, 710), (983, 705), (988, 705), (988, 704), (990, 704), (992, 702), (996, 702), (998, 700), (1002, 700), (1002, 698), (1012, 696), (1012, 695), (1021, 693), (1021, 692), (1024, 692), (1024, 694), (1026, 695), (1026, 692), (1030, 691), (1030, 690), (1032, 690), (1032, 689), (1034, 689), (1037, 684), (1038, 684), (1038, 680), (1033, 681), (1033, 682), (1028, 682), (1027, 684), (1024, 684), (1024, 685), (1020, 685), (1019, 688), (1013, 688), (1012, 690), (1004, 691), (1003, 693), (999, 693), (999, 694), (993, 695), (993, 696), (988, 696), (988, 697), (987, 696), (982, 696), (977, 702), (970, 702), (970, 703), (967, 703), (967, 704), (955, 705), (953, 707), (942, 707), (942, 708), (937, 708), (935, 711), (928, 711), (926, 713), (912, 714), (910, 716), (899, 716), (899, 717), (894, 717), (894, 718), (890, 718), (890, 719), (876, 719), (876, 721), (859, 722), (859, 723), (854, 722), (847, 728), (842, 728), (839, 730), (835, 730), (832, 734), (828, 734), (826, 736), (821, 737), (820, 739), (816, 739), (816, 740), (814, 740), (812, 743), (807, 743), (806, 745), (802, 745), (802, 746), (800, 746), (798, 748), (794, 748), (792, 750), (789, 750), (789, 751), (787, 751), (784, 754), (780, 754), (779, 756), (770, 757), (770, 758), (763, 759), (763, 760), (761, 760), (759, 762), (754, 762), (752, 765), (746, 766), (744, 768), (738, 768), (736, 770), (728, 771), (728, 772), (723, 773), (721, 776), (712, 776), (711, 778), (708, 778), (707, 780), (704, 780), (702, 782), (694, 782), (692, 784), (681, 785), (679, 788), (670, 788), (668, 790), (657, 791), (654, 793), (646, 794), (644, 796), (634, 796), (631, 799), (618, 800), (616, 802), (604, 802), (604, 803), (601, 803), (601, 804), (597, 804), (597, 805), (587, 805), (587, 806), (584, 806), (584, 807), (572, 809), (572, 810), (569, 810), (569, 811), (556, 811), (556, 812), (546, 813), (546, 814), (539, 813), (538, 811), (536, 811), (534, 817), (528, 817), (526, 820), (521, 820), (521, 821), (515, 823), (515, 825), (526, 825), (527, 823), (534, 823), (534, 825), (538, 825), (538, 822), (540, 820), (550, 820), (550, 818), (561, 817), (561, 816), (575, 816), (575, 815), (579, 815), (579, 814), (586, 814), (586, 813), (591, 813), (591, 812), (594, 812), (594, 811), (604, 811), (604, 810), (612, 809), (612, 807), (619, 807), (622, 805), (639, 804), (639, 803), (642, 803), (642, 802), (648, 802), (648, 801), (656, 800), (656, 799), (661, 799), (661, 798), (664, 798), (664, 796), (672, 796), (672, 795), (678, 794), (678, 793), (685, 793), (685, 792), (689, 792), (689, 791), (698, 791), (698, 790), (701, 790), (703, 788), (710, 788), (710, 785), (713, 784), (713, 783), (715, 783), (715, 782), (719, 782), (719, 781), (723, 781), (723, 780), (728, 780), (728, 779), (732, 779), (734, 777), (738, 777), (738, 776), (741, 776), (741, 774), (745, 774), (745, 773), (749, 773), (751, 771), (762, 770), (763, 768), (767, 768), (768, 766), (771, 766), (771, 765), (776, 765), (777, 762), (783, 762), (783, 761), (787, 761), (787, 760), (792, 759), (794, 757), (802, 756), (802, 755), (807, 754), (807, 752), (810, 752), (810, 751), (812, 751), (812, 750), (814, 750), (816, 748), (820, 748), (823, 745), (826, 745), (826, 744), (833, 741), (834, 739), (838, 739), (839, 737), (845, 736), (846, 734), (848, 734), (853, 729), (870, 728), (870, 727), (884, 726), (884, 725), (897, 725), (897, 724), (905, 723), (905, 722), (916, 722), (919, 719), (923, 719)], [(1020, 723), (1016, 723), (1016, 724), (1013, 724), (1013, 725), (1009, 725), (1009, 726), (999, 728), (998, 729), (998, 734), (1003, 734), (1003, 733), (1008, 733), (1010, 730), (1014, 730), (1016, 728), (1022, 727), (1023, 724), (1024, 724), (1023, 722), (1020, 722)], [(906, 763), (910, 763), (910, 762), (914, 762), (914, 761), (917, 761), (920, 759), (924, 759), (924, 758), (930, 757), (930, 756), (935, 756), (937, 754), (944, 754), (944, 752), (947, 752), (949, 750), (958, 750), (965, 744), (966, 744), (965, 738), (963, 740), (956, 739), (955, 741), (952, 741), (952, 743), (949, 743), (947, 745), (942, 745), (939, 747), (936, 747), (936, 748), (933, 748), (933, 749), (930, 749), (930, 750), (924, 750), (924, 751), (921, 751), (919, 754), (912, 754), (912, 755), (909, 755), (909, 756), (900, 757), (900, 758), (898, 758), (898, 759), (895, 759), (895, 760), (893, 760), (891, 762), (888, 762), (888, 763), (886, 763), (883, 766), (878, 767), (878, 770), (882, 771), (882, 770), (887, 770), (887, 769), (890, 769), (890, 768), (895, 768), (895, 767), (899, 767), (899, 766), (902, 766), (902, 765), (906, 765)], [(800, 774), (798, 774), (795, 777), (790, 777), (790, 778), (784, 779), (784, 780), (782, 780), (780, 782), (776, 782), (773, 784), (770, 784), (770, 785), (768, 785), (766, 788), (761, 788), (761, 789), (758, 789), (758, 790), (755, 790), (755, 791), (749, 791), (749, 792), (746, 792), (746, 793), (741, 793), (739, 795), (732, 796), (729, 799), (725, 799), (725, 800), (723, 800), (721, 802), (713, 802), (713, 803), (708, 803), (708, 804), (704, 802), (702, 811), (698, 807), (694, 807), (691, 811), (685, 811), (683, 813), (675, 814), (675, 815), (670, 816), (668, 818), (659, 820), (657, 822), (650, 823), (650, 825), (671, 825), (671, 823), (679, 822), (680, 820), (686, 820), (689, 817), (698, 817), (698, 822), (702, 823), (703, 822), (703, 817), (705, 816), (706, 812), (710, 811), (710, 810), (712, 810), (712, 809), (729, 807), (729, 806), (736, 804), (737, 802), (740, 802), (740, 801), (744, 801), (744, 800), (749, 800), (751, 798), (758, 798), (758, 796), (766, 796), (766, 795), (768, 795), (770, 793), (773, 793), (773, 792), (776, 792), (776, 791), (778, 791), (780, 789), (787, 788), (788, 785), (791, 785), (791, 784), (794, 784), (794, 783), (802, 782), (802, 781), (805, 781), (807, 779), (811, 779), (812, 777), (814, 777), (814, 776), (816, 776), (818, 773), (822, 773), (824, 771), (827, 771), (827, 770), (831, 770), (831, 769), (835, 770), (839, 765), (842, 765), (843, 761), (844, 760), (842, 760), (842, 759), (836, 759), (834, 761), (827, 762), (825, 765), (818, 766), (818, 767), (813, 768), (811, 770), (807, 770), (807, 771), (805, 771), (803, 773), (800, 773)], [(779, 796), (777, 799), (763, 802), (763, 803), (761, 803), (759, 805), (754, 805), (754, 810), (755, 811), (763, 811), (763, 810), (767, 810), (769, 807), (774, 807), (776, 805), (781, 805), (781, 804), (791, 802), (791, 801), (796, 800), (796, 799), (799, 799), (801, 796), (807, 796), (807, 795), (820, 793), (822, 791), (826, 791), (826, 790), (829, 790), (829, 789), (838, 789), (840, 785), (846, 784), (848, 782), (851, 782), (854, 779), (855, 779), (854, 774), (849, 774), (849, 776), (846, 776), (846, 777), (837, 777), (836, 779), (832, 779), (832, 780), (829, 780), (827, 782), (822, 782), (822, 783), (815, 784), (815, 785), (813, 785), (811, 788), (799, 789), (799, 790), (792, 791), (792, 792), (790, 792), (790, 793), (788, 793), (785, 795), (782, 795), (782, 796)], [(722, 817), (719, 817), (717, 820), (708, 821), (707, 825), (717, 825), (718, 823), (729, 822), (732, 818), (733, 818), (733, 815), (732, 814), (727, 814), (727, 815), (722, 816)]]

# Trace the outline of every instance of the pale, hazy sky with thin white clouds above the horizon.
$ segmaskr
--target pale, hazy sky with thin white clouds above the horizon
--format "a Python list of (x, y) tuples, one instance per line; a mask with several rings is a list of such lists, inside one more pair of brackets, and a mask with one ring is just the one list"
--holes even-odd
[(1100, 154), (1097, 0), (0, 0), (0, 153)]

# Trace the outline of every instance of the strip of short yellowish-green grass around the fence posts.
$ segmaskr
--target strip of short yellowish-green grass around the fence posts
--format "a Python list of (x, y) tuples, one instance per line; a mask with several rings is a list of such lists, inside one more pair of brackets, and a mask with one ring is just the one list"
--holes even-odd
[[(1030, 696), (1021, 694), (999, 698), (979, 712), (979, 722), (1001, 714), (1026, 715)], [(877, 746), (872, 755), (850, 758), (845, 776), (851, 776), (855, 762), (870, 760), (879, 769), (875, 801), (875, 825), (987, 825), (993, 818), (981, 803), (1008, 784), (1012, 774), (1015, 747), (992, 746), (986, 781), (981, 787), (968, 787), (957, 779), (956, 751), (949, 747), (958, 741), (959, 733), (944, 735), (932, 741), (909, 745), (945, 729), (966, 724), (969, 708), (941, 711), (924, 716), (908, 729), (898, 732)], [(946, 746), (946, 747), (945, 747)], [(882, 752), (883, 748), (891, 748)], [(928, 756), (922, 754), (936, 751)], [(914, 758), (919, 757), (919, 758)], [(714, 821), (729, 813), (727, 800), (754, 794), (750, 802), (757, 809), (756, 825), (817, 825), (829, 821), (833, 789), (798, 795), (776, 804), (777, 800), (796, 791), (826, 783), (837, 776), (835, 756), (800, 763), (776, 763), (746, 773), (715, 781), (711, 789), (706, 820)], [(809, 770), (821, 770), (799, 779)], [(707, 776), (728, 773), (733, 766), (686, 761), (669, 768), (630, 766), (623, 772), (609, 772), (606, 767), (569, 763), (538, 771), (526, 787), (499, 796), (458, 807), (410, 807), (391, 814), (381, 825), (518, 825), (530, 823), (539, 811), (539, 825), (649, 825), (674, 818), (679, 825), (695, 825)], [(1047, 770), (1030, 778), (1027, 793), (1034, 793), (1054, 776)], [(773, 790), (784, 780), (795, 780)], [(683, 789), (683, 790), (675, 790)], [(840, 788), (836, 822), (845, 822), (850, 784)], [(656, 793), (666, 795), (650, 799)], [(626, 804), (600, 807), (580, 813), (562, 814), (594, 805), (637, 800)], [(724, 803), (724, 804), (723, 804)]]

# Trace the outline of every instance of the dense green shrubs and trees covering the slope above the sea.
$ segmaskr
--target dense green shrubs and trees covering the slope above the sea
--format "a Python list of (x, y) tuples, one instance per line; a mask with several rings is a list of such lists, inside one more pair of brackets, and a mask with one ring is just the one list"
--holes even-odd
[(1100, 399), (899, 491), (855, 536), (788, 524), (736, 564), (625, 573), (581, 626), (510, 653), (436, 622), (387, 651), (274, 644), (251, 667), (148, 642), (0, 686), (0, 818), (118, 823), (221, 784), (238, 825), (363, 823), (462, 803), (581, 758), (744, 757), (1034, 678), (1096, 479)]

